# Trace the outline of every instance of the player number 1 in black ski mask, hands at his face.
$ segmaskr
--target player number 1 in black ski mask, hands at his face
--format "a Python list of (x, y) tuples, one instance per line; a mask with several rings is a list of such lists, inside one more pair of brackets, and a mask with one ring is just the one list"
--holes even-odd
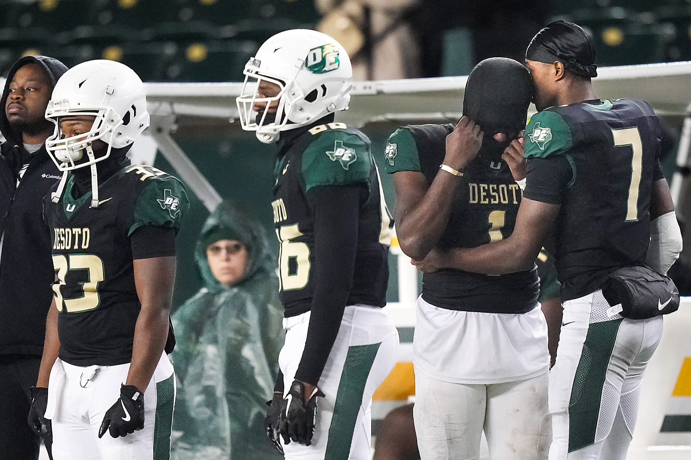
[[(520, 63), (486, 59), (468, 77), (455, 127), (392, 134), (386, 171), (401, 250), (424, 259), (435, 247), (472, 248), (511, 235), (525, 168), (504, 149), (524, 130), (531, 97)], [(547, 459), (549, 353), (538, 294), (534, 263), (501, 277), (424, 274), (413, 340), (422, 459), (478, 459), (483, 429), (491, 459)]]

